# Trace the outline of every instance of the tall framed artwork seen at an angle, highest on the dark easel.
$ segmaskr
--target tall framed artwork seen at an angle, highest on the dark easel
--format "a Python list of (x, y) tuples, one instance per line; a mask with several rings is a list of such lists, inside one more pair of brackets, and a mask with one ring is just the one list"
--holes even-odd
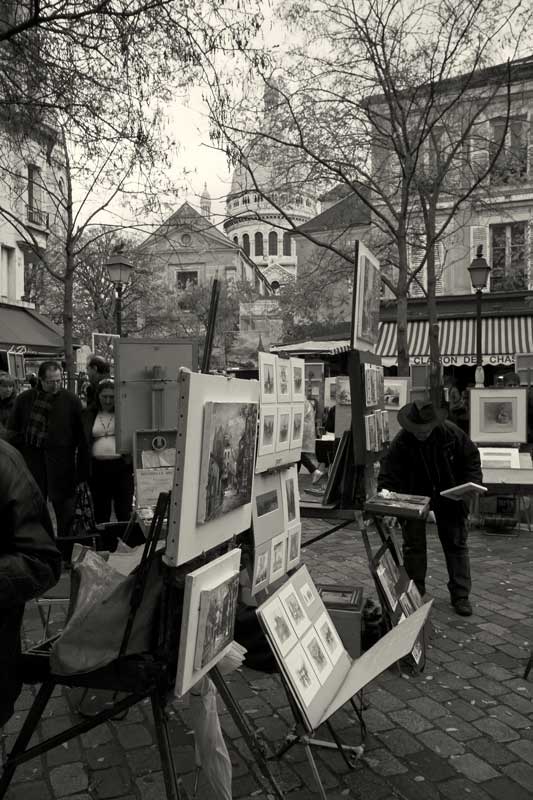
[(352, 349), (374, 352), (379, 333), (379, 261), (358, 242), (352, 306)]

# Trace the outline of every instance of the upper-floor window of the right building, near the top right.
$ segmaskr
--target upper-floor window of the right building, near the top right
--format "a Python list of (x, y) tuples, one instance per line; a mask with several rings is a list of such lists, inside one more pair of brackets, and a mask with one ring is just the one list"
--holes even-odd
[[(526, 119), (493, 120), (490, 142), (490, 157), (493, 159), (502, 139), (503, 147), (490, 173), (492, 184), (515, 183), (527, 175), (527, 140), (528, 129)], [(507, 128), (507, 130), (506, 130)]]

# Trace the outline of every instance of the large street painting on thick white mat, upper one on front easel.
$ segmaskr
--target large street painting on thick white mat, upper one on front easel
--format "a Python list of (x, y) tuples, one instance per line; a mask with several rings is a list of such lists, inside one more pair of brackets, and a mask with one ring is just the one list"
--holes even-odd
[(170, 566), (250, 527), (258, 401), (257, 381), (180, 372)]

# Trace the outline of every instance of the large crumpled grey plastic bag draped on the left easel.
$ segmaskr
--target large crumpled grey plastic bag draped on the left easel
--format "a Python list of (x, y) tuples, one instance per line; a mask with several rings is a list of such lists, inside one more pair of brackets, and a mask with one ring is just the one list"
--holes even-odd
[[(80, 560), (72, 565), (69, 618), (50, 654), (52, 672), (57, 675), (92, 672), (118, 657), (134, 582), (134, 575), (121, 575), (98, 553), (83, 548)], [(161, 587), (160, 563), (154, 559), (127, 655), (150, 650)]]

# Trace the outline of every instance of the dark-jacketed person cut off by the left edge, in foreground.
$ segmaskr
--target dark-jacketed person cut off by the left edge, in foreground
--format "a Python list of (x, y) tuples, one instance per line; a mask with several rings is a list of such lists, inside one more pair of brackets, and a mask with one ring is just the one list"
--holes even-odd
[(0, 727), (20, 694), (24, 604), (59, 580), (61, 555), (39, 488), (24, 460), (0, 441)]

